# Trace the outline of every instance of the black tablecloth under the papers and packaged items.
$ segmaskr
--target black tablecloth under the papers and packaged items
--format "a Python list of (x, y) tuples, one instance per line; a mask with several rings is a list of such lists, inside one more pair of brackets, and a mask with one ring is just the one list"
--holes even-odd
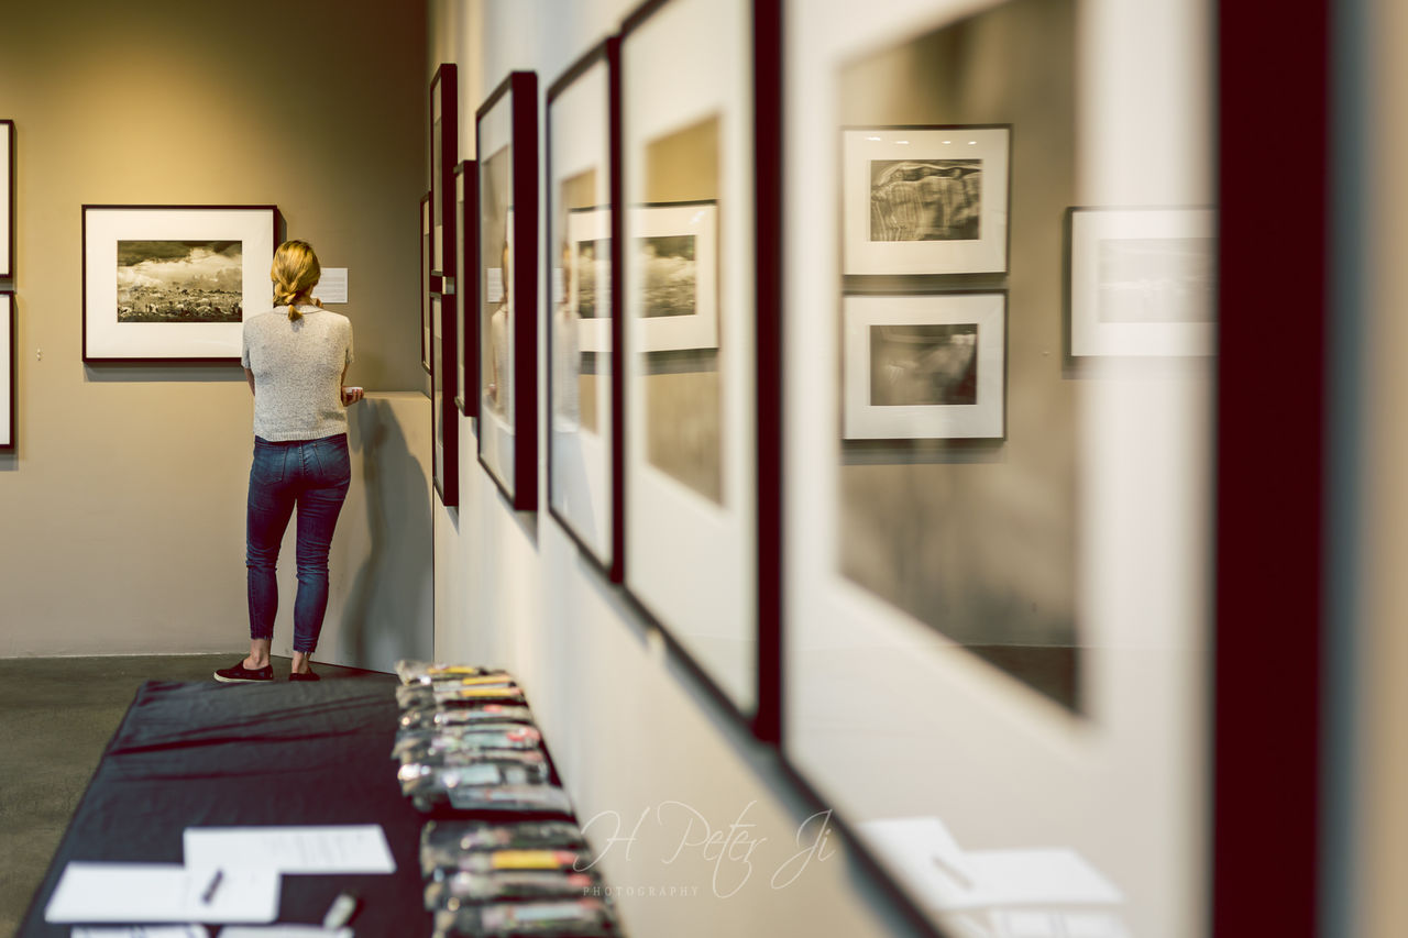
[(359, 937), (428, 935), (418, 859), (424, 818), (390, 759), (396, 679), (215, 684), (148, 682), (79, 803), (18, 935), (69, 935), (44, 907), (69, 861), (182, 862), (187, 827), (380, 824), (384, 876), (284, 876), (279, 921), (321, 923), (338, 892), (362, 897)]

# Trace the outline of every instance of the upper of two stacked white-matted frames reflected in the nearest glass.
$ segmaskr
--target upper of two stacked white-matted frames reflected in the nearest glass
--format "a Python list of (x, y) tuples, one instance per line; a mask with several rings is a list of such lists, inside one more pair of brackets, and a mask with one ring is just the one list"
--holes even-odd
[(842, 273), (1005, 273), (1012, 130), (846, 127)]

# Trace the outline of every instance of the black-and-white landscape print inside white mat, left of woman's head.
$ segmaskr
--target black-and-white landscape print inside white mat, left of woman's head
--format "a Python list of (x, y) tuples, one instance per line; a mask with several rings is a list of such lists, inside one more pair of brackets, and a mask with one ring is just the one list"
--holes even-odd
[(118, 323), (239, 323), (239, 241), (118, 241)]

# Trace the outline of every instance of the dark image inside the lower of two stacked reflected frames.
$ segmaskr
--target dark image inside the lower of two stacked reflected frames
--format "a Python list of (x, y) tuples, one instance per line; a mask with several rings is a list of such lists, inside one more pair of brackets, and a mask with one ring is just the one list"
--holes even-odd
[(977, 403), (977, 324), (870, 327), (870, 404)]

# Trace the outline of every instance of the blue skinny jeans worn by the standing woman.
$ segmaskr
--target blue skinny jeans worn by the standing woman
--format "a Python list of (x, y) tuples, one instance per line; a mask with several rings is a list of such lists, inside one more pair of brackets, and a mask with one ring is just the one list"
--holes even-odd
[(328, 549), (352, 482), (348, 435), (269, 442), (255, 437), (249, 468), (245, 566), (249, 568), (249, 638), (273, 638), (279, 611), (275, 566), (298, 510), (298, 594), (293, 600), (293, 649), (311, 655), (328, 608)]

